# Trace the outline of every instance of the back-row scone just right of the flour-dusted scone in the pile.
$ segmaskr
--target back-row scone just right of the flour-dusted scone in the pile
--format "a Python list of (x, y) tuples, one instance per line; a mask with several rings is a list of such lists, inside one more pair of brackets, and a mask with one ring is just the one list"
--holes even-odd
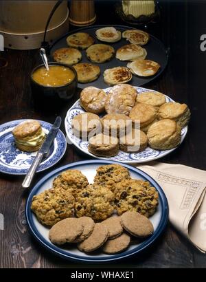
[(152, 105), (156, 109), (161, 107), (166, 102), (164, 94), (154, 91), (142, 92), (137, 96), (137, 102)]

